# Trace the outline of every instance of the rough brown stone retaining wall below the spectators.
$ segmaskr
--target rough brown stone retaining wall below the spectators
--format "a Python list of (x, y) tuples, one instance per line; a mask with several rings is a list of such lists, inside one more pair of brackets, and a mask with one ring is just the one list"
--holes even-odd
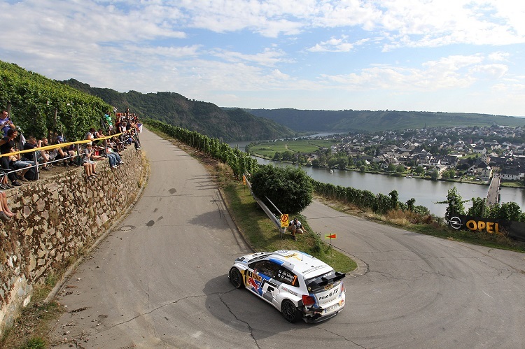
[(98, 178), (76, 167), (7, 190), (16, 213), (0, 226), (0, 335), (29, 304), (34, 285), (74, 262), (124, 213), (146, 180), (147, 159), (132, 147), (111, 170), (97, 162)]

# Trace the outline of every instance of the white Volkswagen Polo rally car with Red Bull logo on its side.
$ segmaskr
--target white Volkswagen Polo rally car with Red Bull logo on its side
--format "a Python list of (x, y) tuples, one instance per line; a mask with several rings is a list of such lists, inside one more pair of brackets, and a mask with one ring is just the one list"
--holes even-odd
[(289, 322), (318, 322), (344, 307), (344, 273), (300, 251), (257, 252), (235, 259), (231, 283), (279, 309)]

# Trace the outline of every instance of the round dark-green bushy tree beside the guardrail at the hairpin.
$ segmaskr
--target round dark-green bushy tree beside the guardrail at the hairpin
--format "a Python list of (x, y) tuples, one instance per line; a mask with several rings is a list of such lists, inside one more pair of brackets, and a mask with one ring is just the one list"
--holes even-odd
[(269, 204), (267, 197), (281, 213), (289, 214), (300, 213), (311, 204), (314, 190), (307, 173), (292, 166), (260, 166), (251, 176), (251, 184), (255, 197)]

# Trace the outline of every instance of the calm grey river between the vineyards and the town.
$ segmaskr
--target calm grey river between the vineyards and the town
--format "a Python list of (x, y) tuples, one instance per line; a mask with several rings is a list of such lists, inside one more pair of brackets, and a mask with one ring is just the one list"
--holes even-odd
[[(244, 147), (249, 142), (230, 143), (232, 147)], [(257, 158), (259, 164), (274, 164), (283, 166), (281, 162), (272, 162), (266, 159)], [(399, 193), (399, 201), (416, 199), (416, 206), (421, 205), (428, 208), (430, 213), (438, 217), (444, 217), (446, 204), (436, 204), (437, 201), (445, 201), (447, 193), (451, 187), (456, 187), (463, 200), (472, 199), (472, 197), (486, 197), (489, 189), (488, 185), (476, 185), (468, 183), (444, 182), (441, 180), (424, 180), (420, 178), (391, 177), (380, 174), (361, 173), (356, 171), (339, 171), (334, 170), (330, 173), (328, 169), (314, 169), (313, 167), (303, 166), (302, 169), (314, 180), (322, 183), (331, 183), (341, 185), (342, 187), (354, 187), (360, 190), (370, 190), (374, 194), (388, 195), (392, 190)], [(525, 190), (518, 188), (502, 187), (500, 190), (501, 202), (515, 202), (525, 211)], [(472, 206), (472, 201), (465, 202), (465, 208)]]

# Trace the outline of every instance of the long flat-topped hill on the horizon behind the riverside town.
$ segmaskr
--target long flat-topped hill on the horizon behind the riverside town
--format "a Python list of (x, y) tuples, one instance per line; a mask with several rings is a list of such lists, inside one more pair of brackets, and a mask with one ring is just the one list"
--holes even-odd
[(304, 111), (283, 109), (244, 109), (267, 117), (295, 131), (386, 131), (446, 126), (525, 127), (525, 118), (488, 114), (434, 113), (421, 111)]

